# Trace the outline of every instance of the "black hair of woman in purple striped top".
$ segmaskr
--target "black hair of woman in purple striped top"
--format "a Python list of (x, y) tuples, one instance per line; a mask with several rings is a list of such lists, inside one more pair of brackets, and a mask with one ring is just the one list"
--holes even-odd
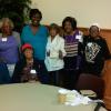
[(67, 21), (71, 23), (73, 30), (77, 29), (77, 20), (75, 20), (75, 18), (72, 18), (72, 17), (65, 17), (65, 18), (63, 19), (63, 21), (62, 21), (62, 28), (63, 28), (63, 29), (64, 29), (64, 23), (65, 23)]

